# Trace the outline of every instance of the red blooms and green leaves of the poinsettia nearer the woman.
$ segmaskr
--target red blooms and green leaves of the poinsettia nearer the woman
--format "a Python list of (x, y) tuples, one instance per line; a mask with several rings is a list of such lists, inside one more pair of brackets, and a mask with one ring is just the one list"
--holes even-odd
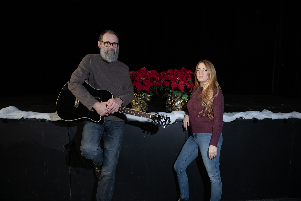
[(192, 76), (193, 72), (186, 70), (184, 67), (180, 68), (180, 70), (169, 69), (160, 73), (160, 80), (157, 82), (157, 86), (160, 91), (163, 89), (167, 91), (164, 96), (172, 93), (188, 100), (194, 86)]

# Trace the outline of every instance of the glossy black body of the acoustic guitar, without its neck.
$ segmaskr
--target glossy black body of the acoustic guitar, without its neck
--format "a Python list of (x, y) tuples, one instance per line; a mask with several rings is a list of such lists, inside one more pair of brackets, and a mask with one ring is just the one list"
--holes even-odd
[[(71, 123), (83, 122), (86, 120), (97, 122), (99, 124), (104, 123), (104, 116), (100, 116), (96, 111), (90, 111), (86, 106), (77, 100), (77, 98), (72, 94), (68, 88), (68, 83), (65, 84), (61, 93), (56, 101), (56, 113), (57, 115)], [(98, 101), (106, 102), (110, 98), (113, 98), (113, 95), (108, 90), (98, 90), (93, 88), (87, 82), (82, 84), (89, 93), (97, 97)], [(75, 107), (76, 101), (78, 102), (77, 107)]]

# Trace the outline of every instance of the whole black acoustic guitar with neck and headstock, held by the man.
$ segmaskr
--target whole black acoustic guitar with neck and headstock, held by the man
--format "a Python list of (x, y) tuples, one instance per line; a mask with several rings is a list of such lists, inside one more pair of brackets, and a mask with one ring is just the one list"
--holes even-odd
[[(61, 93), (56, 101), (56, 113), (57, 115), (71, 123), (83, 122), (85, 120), (93, 121), (99, 124), (104, 123), (104, 116), (100, 116), (95, 110), (90, 111), (86, 106), (84, 106), (68, 89), (68, 83), (65, 84)], [(86, 81), (82, 84), (88, 92), (96, 98), (99, 102), (106, 102), (110, 98), (114, 98), (112, 93), (108, 90), (99, 90), (92, 87)], [(117, 110), (119, 113), (133, 115), (137, 117), (143, 117), (152, 120), (155, 124), (168, 126), (170, 123), (169, 117), (164, 117), (163, 114), (157, 113), (152, 115), (149, 113), (132, 110), (126, 107), (119, 107)]]

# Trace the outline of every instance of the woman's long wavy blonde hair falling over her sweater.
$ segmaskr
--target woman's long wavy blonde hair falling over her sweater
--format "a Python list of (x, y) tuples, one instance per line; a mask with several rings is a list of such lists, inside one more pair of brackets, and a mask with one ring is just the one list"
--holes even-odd
[(213, 92), (215, 88), (220, 90), (221, 88), (219, 86), (219, 83), (217, 82), (216, 71), (213, 64), (207, 60), (201, 60), (198, 62), (194, 72), (195, 85), (193, 87), (193, 95), (195, 95), (198, 88), (200, 87), (200, 82), (197, 79), (197, 69), (200, 63), (203, 63), (206, 66), (208, 79), (203, 84), (202, 93), (198, 95), (198, 97), (201, 97), (200, 105), (202, 105), (203, 107), (202, 111), (198, 113), (198, 116), (203, 113), (204, 117), (207, 115), (207, 117), (210, 120), (214, 120), (214, 117), (212, 115), (213, 99), (219, 94), (219, 90), (217, 90), (217, 93), (214, 96), (213, 96)]

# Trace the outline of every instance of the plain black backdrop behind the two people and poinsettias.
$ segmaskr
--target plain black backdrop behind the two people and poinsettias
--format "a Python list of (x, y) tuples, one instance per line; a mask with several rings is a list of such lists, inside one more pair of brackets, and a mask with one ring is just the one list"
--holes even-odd
[(41, 2), (2, 3), (1, 96), (58, 94), (113, 30), (130, 70), (194, 70), (208, 59), (223, 93), (301, 97), (298, 1)]

